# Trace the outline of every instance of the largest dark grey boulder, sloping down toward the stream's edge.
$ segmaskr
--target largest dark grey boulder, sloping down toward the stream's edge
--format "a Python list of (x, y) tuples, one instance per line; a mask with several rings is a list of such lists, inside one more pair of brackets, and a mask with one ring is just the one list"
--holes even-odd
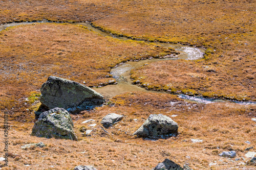
[(42, 84), (40, 91), (40, 108), (46, 110), (59, 107), (72, 112), (100, 106), (104, 102), (103, 96), (95, 90), (54, 76), (50, 76), (47, 82)]

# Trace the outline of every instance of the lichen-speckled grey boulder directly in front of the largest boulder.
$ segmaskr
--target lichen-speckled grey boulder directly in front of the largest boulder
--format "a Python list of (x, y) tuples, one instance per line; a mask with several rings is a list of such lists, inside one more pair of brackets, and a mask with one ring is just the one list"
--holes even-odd
[(32, 129), (31, 136), (77, 140), (69, 112), (54, 108), (40, 114)]

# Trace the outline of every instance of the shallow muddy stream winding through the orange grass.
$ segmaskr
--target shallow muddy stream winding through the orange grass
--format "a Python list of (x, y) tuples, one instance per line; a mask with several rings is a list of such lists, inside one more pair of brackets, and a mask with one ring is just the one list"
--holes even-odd
[[(8, 23), (5, 25), (0, 25), (0, 31), (8, 28), (8, 27), (14, 27), (19, 25), (28, 25), (33, 23), (44, 23), (49, 21), (38, 21), (38, 22), (14, 22), (14, 23)], [(97, 33), (99, 33), (102, 36), (110, 36), (113, 38), (117, 38), (120, 40), (129, 40), (129, 38), (125, 37), (116, 37), (110, 34), (109, 32), (104, 32), (102, 30), (96, 29), (90, 25), (88, 22), (82, 22), (82, 23), (73, 23), (74, 25), (82, 25), (87, 27), (90, 30), (93, 30)], [(141, 41), (141, 40), (140, 40)], [(147, 42), (146, 43), (151, 43)], [(143, 66), (144, 64), (150, 64), (152, 62), (157, 61), (163, 61), (163, 60), (177, 60), (177, 59), (185, 59), (185, 60), (197, 60), (203, 57), (204, 49), (203, 48), (197, 48), (193, 46), (187, 46), (187, 45), (181, 45), (181, 44), (170, 44), (170, 43), (161, 43), (161, 42), (154, 42), (157, 45), (161, 45), (162, 47), (172, 47), (176, 51), (178, 51), (180, 54), (173, 57), (173, 58), (165, 58), (165, 59), (147, 59), (147, 60), (140, 60), (140, 61), (129, 61), (126, 63), (122, 63), (115, 68), (111, 69), (111, 75), (113, 75), (113, 78), (116, 79), (117, 84), (114, 85), (107, 85), (103, 87), (93, 88), (97, 92), (101, 93), (105, 98), (112, 98), (115, 95), (119, 95), (125, 92), (132, 92), (132, 91), (148, 91), (144, 88), (141, 88), (137, 85), (132, 84), (132, 80), (130, 78), (130, 71), (134, 68), (138, 68)], [(151, 91), (151, 92), (161, 92), (163, 91)], [(203, 98), (202, 96), (188, 96), (185, 94), (179, 94), (178, 95), (181, 99), (188, 100), (188, 101), (196, 101), (199, 103), (214, 103), (214, 102), (234, 102), (239, 103), (243, 105), (247, 104), (256, 104), (256, 102), (238, 102), (238, 101), (228, 101), (228, 100), (221, 100), (221, 99), (210, 99), (210, 98)]]

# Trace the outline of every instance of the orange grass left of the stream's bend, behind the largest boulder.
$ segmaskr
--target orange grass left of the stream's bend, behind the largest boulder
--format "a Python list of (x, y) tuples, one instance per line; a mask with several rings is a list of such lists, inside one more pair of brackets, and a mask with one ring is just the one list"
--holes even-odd
[(22, 113), (19, 119), (24, 121), (31, 120), (25, 116), (29, 105), (24, 98), (38, 91), (49, 76), (87, 86), (106, 85), (115, 82), (109, 74), (111, 67), (163, 52), (154, 45), (102, 37), (82, 26), (57, 23), (2, 31), (0, 48), (1, 109), (15, 105), (12, 112)]

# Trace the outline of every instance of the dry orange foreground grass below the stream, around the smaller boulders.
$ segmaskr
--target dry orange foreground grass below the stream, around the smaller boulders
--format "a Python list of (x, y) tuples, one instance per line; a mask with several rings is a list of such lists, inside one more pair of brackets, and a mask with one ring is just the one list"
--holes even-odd
[[(119, 102), (116, 102), (119, 101)], [(120, 104), (120, 101), (123, 101)], [(159, 102), (161, 101), (161, 102)], [(244, 149), (255, 145), (256, 127), (250, 119), (256, 116), (255, 106), (229, 103), (187, 103), (170, 94), (126, 93), (112, 100), (114, 107), (100, 107), (72, 115), (78, 141), (46, 139), (30, 136), (32, 123), (11, 122), (9, 167), (3, 169), (72, 169), (77, 165), (93, 165), (97, 169), (152, 169), (168, 158), (193, 169), (253, 169), (239, 165), (246, 160), (231, 162), (218, 156), (222, 151), (234, 150), (237, 158), (244, 157)], [(137, 103), (136, 103), (137, 102)], [(172, 103), (170, 103), (172, 102)], [(120, 105), (119, 105), (120, 104)], [(124, 115), (113, 128), (101, 128), (100, 121), (108, 113)], [(136, 138), (132, 134), (150, 114), (171, 116), (179, 125), (179, 135), (157, 141)], [(81, 124), (86, 119), (95, 122)], [(134, 120), (137, 119), (137, 120)], [(90, 124), (97, 126), (90, 128)], [(79, 129), (93, 129), (91, 137), (83, 137)], [(190, 139), (202, 139), (192, 143)], [(249, 140), (251, 144), (246, 144)], [(46, 148), (22, 150), (27, 143), (44, 142)], [(3, 143), (0, 143), (2, 147)], [(217, 149), (219, 147), (220, 149)], [(254, 151), (254, 150), (251, 150)], [(1, 151), (2, 152), (2, 151)], [(186, 156), (190, 156), (187, 158)], [(223, 160), (223, 162), (219, 160)], [(234, 159), (231, 159), (234, 160)], [(227, 163), (227, 164), (226, 164)], [(30, 166), (25, 166), (30, 164)]]

